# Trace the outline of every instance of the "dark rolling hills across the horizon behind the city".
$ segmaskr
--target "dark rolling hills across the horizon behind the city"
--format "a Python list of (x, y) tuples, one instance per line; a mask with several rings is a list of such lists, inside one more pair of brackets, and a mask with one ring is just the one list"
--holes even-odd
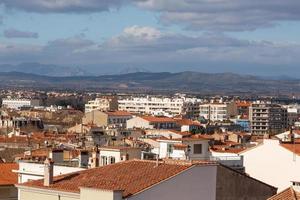
[(2, 88), (51, 88), (105, 91), (165, 91), (202, 94), (300, 94), (300, 80), (274, 80), (233, 73), (136, 72), (102, 76), (51, 77), (1, 72)]

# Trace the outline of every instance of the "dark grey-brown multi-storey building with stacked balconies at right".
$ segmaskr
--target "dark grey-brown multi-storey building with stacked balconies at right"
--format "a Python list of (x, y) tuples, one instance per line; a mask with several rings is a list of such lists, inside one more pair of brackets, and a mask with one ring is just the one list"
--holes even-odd
[(255, 102), (250, 106), (251, 133), (278, 134), (288, 128), (287, 109), (269, 102)]

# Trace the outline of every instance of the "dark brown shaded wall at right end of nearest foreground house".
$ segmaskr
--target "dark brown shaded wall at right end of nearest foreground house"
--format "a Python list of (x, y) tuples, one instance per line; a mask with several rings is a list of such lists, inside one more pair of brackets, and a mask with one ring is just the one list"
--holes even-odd
[(266, 200), (274, 194), (275, 188), (218, 166), (216, 200)]

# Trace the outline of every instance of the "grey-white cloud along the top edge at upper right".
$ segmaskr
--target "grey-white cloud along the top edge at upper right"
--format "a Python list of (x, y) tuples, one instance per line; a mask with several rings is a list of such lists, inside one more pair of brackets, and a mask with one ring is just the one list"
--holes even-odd
[(188, 29), (251, 31), (280, 21), (300, 20), (297, 0), (134, 0), (144, 9), (161, 13), (164, 24)]

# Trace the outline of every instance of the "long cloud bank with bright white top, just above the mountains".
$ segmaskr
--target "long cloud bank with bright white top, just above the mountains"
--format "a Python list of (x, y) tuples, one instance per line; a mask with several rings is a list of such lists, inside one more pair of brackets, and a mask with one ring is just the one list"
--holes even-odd
[[(144, 34), (144, 30), (151, 30), (152, 33)], [(42, 46), (0, 45), (0, 60), (3, 63), (94, 65), (99, 71), (112, 66), (152, 66), (152, 69), (161, 71), (168, 66), (169, 69), (186, 70), (190, 67), (190, 70), (230, 69), (234, 72), (268, 69), (275, 73), (280, 66), (288, 72), (299, 66), (299, 54), (299, 44), (239, 40), (224, 34), (191, 37), (136, 26), (126, 28), (120, 35), (100, 44), (74, 36)]]

